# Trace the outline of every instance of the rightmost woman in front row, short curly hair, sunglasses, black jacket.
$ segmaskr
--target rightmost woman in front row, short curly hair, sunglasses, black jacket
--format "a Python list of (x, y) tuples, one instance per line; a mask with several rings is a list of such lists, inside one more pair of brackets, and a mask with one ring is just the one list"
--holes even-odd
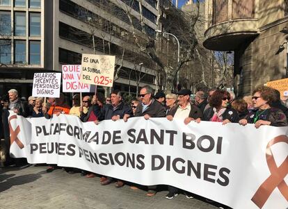
[(287, 126), (287, 118), (278, 108), (272, 108), (271, 103), (275, 100), (275, 92), (271, 87), (261, 86), (253, 91), (253, 106), (257, 112), (250, 112), (239, 124), (255, 124), (255, 128), (262, 125)]

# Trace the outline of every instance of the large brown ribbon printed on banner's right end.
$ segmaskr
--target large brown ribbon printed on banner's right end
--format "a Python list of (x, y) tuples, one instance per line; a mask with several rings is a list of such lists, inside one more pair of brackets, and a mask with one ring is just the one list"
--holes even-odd
[(278, 137), (273, 138), (266, 147), (266, 162), (269, 167), (271, 175), (260, 185), (257, 192), (251, 199), (253, 203), (262, 208), (269, 199), (273, 190), (276, 187), (280, 190), (281, 194), (288, 201), (288, 186), (284, 181), (285, 176), (288, 174), (288, 156), (285, 158), (284, 162), (277, 167), (273, 153), (271, 151), (271, 146), (279, 142), (286, 142), (288, 144), (287, 135), (278, 135)]

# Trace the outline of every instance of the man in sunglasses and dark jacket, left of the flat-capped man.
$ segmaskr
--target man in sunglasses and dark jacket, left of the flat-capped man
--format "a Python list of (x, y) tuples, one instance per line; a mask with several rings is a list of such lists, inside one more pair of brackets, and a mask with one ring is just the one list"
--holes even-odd
[[(134, 116), (140, 117), (143, 116), (145, 119), (150, 119), (150, 117), (165, 117), (166, 108), (159, 103), (159, 101), (153, 99), (154, 90), (152, 87), (146, 85), (140, 90), (140, 100), (136, 108)], [(147, 196), (152, 197), (156, 194), (156, 185), (148, 186)]]

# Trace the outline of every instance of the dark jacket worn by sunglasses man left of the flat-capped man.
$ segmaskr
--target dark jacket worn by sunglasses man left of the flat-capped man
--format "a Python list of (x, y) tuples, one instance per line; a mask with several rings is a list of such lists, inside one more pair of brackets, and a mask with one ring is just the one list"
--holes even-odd
[(135, 117), (140, 117), (144, 115), (150, 115), (150, 117), (165, 117), (166, 116), (166, 108), (159, 103), (157, 100), (152, 100), (150, 106), (146, 108), (144, 112), (142, 112), (143, 107), (142, 104), (138, 104), (135, 112)]

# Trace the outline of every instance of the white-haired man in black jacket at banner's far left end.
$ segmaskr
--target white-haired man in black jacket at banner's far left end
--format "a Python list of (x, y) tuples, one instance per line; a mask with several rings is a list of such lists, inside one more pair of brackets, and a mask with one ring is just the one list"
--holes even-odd
[(17, 115), (22, 115), (23, 117), (27, 117), (29, 115), (29, 108), (27, 106), (27, 103), (22, 102), (18, 98), (18, 92), (17, 90), (9, 90), (9, 106), (8, 108), (10, 110), (13, 110)]

